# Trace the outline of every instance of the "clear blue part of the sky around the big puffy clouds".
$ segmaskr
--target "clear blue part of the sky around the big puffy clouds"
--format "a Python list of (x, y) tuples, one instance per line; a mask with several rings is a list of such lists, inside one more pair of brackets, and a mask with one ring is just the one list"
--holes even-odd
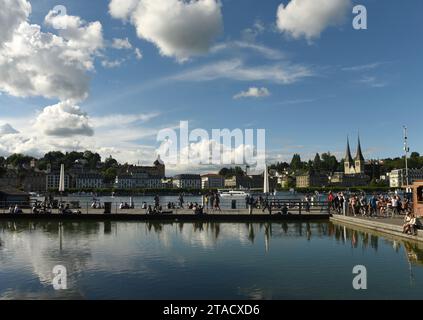
[[(28, 20), (45, 33), (58, 34), (45, 22), (57, 1), (30, 2)], [(358, 132), (365, 156), (384, 158), (402, 154), (402, 125), (407, 124), (412, 150), (423, 152), (423, 2), (353, 1), (367, 8), (367, 30), (353, 29), (349, 8), (342, 21), (323, 27), (320, 35), (309, 39), (278, 29), (278, 6), (289, 2), (222, 0), (223, 31), (213, 37), (207, 52), (179, 61), (160, 54), (151, 39), (138, 36), (131, 21), (113, 18), (109, 1), (61, 1), (68, 15), (102, 25), (105, 44), (93, 58), (94, 68), (86, 71), (88, 97), (77, 102), (94, 127), (90, 139), (99, 141), (103, 154), (117, 152), (121, 160), (126, 155), (119, 146), (130, 141), (128, 148), (139, 146), (144, 152), (129, 161), (149, 162), (157, 147), (155, 132), (189, 120), (192, 129), (266, 129), (272, 161), (288, 160), (294, 152), (309, 158), (331, 151), (341, 158), (346, 136), (355, 148)], [(112, 48), (114, 38), (128, 38), (131, 48)], [(136, 58), (135, 48), (142, 59)], [(104, 61), (120, 64), (110, 68)], [(278, 81), (275, 75), (281, 73), (289, 80)], [(39, 117), (44, 107), (61, 100), (45, 94), (25, 97), (4, 88), (0, 85), (0, 125), (8, 123), (21, 134), (28, 134), (31, 119)], [(268, 95), (234, 98), (249, 88), (265, 88)], [(140, 116), (128, 127), (120, 125), (119, 117), (113, 121), (114, 115), (146, 118)], [(92, 125), (96, 119), (108, 121), (107, 126), (96, 130)], [(113, 131), (116, 127), (121, 130)], [(125, 134), (125, 128), (139, 134)], [(112, 137), (107, 135), (110, 130)], [(86, 139), (78, 133), (66, 138)], [(95, 144), (63, 148), (91, 145)], [(29, 153), (45, 151), (33, 145), (29, 149)], [(16, 150), (25, 151), (3, 145), (5, 154)]]

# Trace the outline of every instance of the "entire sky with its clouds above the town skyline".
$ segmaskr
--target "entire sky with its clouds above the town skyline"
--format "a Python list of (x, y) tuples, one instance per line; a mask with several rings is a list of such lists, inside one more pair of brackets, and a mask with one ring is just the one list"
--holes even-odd
[[(365, 30), (353, 28), (356, 5), (367, 9)], [(358, 134), (367, 159), (401, 156), (403, 125), (423, 153), (420, 0), (0, 7), (0, 155), (89, 149), (149, 164), (158, 132), (180, 121), (210, 134), (265, 129), (268, 163), (328, 151), (341, 159)]]

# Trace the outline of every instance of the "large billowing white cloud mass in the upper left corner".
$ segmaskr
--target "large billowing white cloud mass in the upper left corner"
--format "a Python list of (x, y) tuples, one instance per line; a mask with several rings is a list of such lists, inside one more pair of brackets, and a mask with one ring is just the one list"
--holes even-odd
[[(45, 19), (47, 25), (66, 26), (58, 36), (28, 22), (28, 1), (0, 3), (0, 37), (7, 39), (0, 46), (0, 91), (17, 97), (85, 99), (89, 91), (87, 71), (94, 69), (94, 57), (103, 47), (101, 24), (86, 24), (79, 17), (50, 12)], [(9, 15), (19, 17), (11, 24), (13, 28), (3, 25), (8, 23), (4, 17)]]

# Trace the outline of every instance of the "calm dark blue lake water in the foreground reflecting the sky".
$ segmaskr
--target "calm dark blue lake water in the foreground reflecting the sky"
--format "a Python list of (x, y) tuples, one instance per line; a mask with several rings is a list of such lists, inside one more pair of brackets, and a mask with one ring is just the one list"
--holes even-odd
[[(329, 222), (0, 221), (0, 242), (2, 299), (423, 297), (423, 245)], [(353, 289), (355, 265), (367, 290)]]

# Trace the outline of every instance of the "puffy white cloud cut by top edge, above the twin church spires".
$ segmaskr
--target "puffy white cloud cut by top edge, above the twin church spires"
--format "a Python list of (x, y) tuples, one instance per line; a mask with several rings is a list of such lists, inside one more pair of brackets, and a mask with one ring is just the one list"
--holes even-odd
[(351, 0), (291, 0), (280, 4), (277, 11), (277, 27), (293, 38), (318, 38), (329, 26), (344, 22)]

